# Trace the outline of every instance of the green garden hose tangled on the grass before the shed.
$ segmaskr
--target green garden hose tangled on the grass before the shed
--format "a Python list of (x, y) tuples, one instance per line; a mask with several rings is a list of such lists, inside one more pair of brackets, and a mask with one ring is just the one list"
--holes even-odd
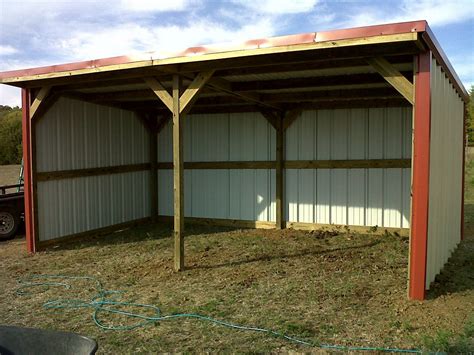
[[(383, 352), (396, 352), (396, 353), (421, 353), (417, 349), (397, 349), (397, 348), (377, 348), (377, 347), (355, 347), (355, 346), (343, 346), (343, 345), (329, 345), (329, 344), (318, 344), (302, 340), (296, 337), (286, 335), (281, 332), (277, 332), (271, 329), (247, 326), (235, 324), (223, 320), (214, 319), (201, 314), (196, 313), (179, 313), (162, 315), (160, 309), (155, 305), (141, 304), (133, 302), (119, 301), (117, 297), (122, 295), (123, 291), (107, 290), (103, 287), (102, 283), (95, 277), (92, 276), (67, 276), (67, 275), (30, 275), (27, 278), (19, 280), (20, 286), (16, 289), (16, 294), (19, 296), (25, 296), (31, 294), (33, 288), (42, 288), (43, 290), (49, 287), (64, 287), (66, 290), (70, 290), (71, 284), (68, 280), (86, 280), (95, 283), (97, 293), (90, 300), (81, 300), (74, 298), (62, 298), (56, 300), (48, 300), (43, 304), (46, 309), (79, 309), (79, 308), (90, 308), (93, 310), (92, 319), (94, 323), (101, 329), (104, 330), (132, 330), (139, 327), (146, 326), (152, 323), (158, 323), (165, 320), (172, 319), (185, 319), (194, 318), (202, 321), (210, 322), (216, 325), (238, 329), (243, 331), (265, 333), (277, 338), (285, 339), (289, 342), (318, 347), (321, 349), (333, 349), (343, 351), (383, 351)], [(152, 311), (153, 315), (144, 315), (140, 313), (122, 311), (118, 308), (121, 307), (133, 307), (141, 308), (143, 310)], [(117, 326), (104, 324), (99, 319), (101, 313), (112, 313), (126, 316), (129, 318), (137, 319), (138, 322), (127, 326)]]

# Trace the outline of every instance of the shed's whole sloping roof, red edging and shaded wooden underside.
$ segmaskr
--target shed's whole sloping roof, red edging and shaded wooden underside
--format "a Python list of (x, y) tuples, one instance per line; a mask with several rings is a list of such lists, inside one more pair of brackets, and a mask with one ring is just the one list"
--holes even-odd
[[(56, 93), (131, 110), (161, 110), (146, 85), (157, 78), (165, 90), (171, 76), (184, 84), (197, 73), (215, 74), (194, 112), (264, 108), (345, 107), (357, 102), (406, 104), (368, 64), (383, 57), (407, 80), (413, 56), (430, 49), (466, 100), (468, 94), (426, 21), (352, 28), (147, 53), (0, 73), (0, 83), (23, 88), (52, 87)], [(369, 101), (370, 100), (370, 101)], [(166, 110), (165, 110), (166, 111)]]

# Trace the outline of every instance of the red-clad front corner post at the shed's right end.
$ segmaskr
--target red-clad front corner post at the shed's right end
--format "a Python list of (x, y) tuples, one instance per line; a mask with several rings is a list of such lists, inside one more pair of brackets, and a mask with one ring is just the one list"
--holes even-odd
[(431, 52), (415, 61), (408, 297), (425, 299), (430, 177)]

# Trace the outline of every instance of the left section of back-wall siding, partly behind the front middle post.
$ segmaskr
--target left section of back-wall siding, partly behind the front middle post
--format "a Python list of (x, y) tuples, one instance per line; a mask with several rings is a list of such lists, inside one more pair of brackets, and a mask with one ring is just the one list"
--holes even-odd
[[(275, 131), (259, 113), (189, 115), (184, 161), (275, 160)], [(171, 162), (172, 123), (158, 136), (158, 161)], [(275, 171), (186, 170), (185, 216), (275, 221)], [(158, 172), (158, 213), (173, 215), (173, 172)]]

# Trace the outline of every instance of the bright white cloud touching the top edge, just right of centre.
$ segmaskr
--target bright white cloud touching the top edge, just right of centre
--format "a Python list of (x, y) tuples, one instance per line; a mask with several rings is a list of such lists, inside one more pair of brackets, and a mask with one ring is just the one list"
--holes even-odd
[(266, 14), (297, 14), (313, 10), (319, 0), (233, 0), (250, 11)]

